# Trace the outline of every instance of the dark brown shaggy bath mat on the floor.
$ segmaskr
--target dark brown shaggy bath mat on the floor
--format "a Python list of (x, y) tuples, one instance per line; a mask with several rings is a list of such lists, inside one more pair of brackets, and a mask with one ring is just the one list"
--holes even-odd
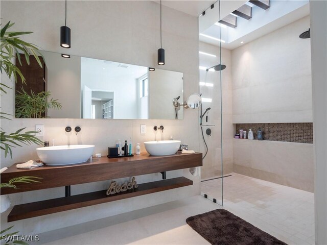
[(186, 223), (211, 244), (287, 245), (225, 209), (188, 217)]

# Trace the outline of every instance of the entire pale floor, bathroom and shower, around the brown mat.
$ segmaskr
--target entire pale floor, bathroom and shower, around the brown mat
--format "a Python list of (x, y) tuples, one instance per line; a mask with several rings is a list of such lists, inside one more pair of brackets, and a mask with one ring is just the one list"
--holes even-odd
[[(218, 183), (202, 182), (202, 191), (217, 201)], [(313, 193), (238, 174), (223, 185), (223, 208), (288, 244), (314, 244)], [(217, 208), (197, 195), (42, 233), (37, 244), (209, 244), (185, 219)]]

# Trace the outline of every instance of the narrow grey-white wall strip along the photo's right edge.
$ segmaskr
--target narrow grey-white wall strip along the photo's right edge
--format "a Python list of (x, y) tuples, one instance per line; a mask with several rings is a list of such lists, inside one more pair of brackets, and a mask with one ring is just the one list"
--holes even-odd
[(310, 1), (315, 144), (315, 242), (327, 244), (327, 2)]

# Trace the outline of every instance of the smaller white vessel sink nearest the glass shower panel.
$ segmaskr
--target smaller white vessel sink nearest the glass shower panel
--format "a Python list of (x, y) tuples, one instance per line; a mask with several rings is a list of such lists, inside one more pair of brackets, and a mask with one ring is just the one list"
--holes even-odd
[(180, 146), (180, 140), (158, 140), (144, 142), (145, 150), (152, 156), (175, 154)]

